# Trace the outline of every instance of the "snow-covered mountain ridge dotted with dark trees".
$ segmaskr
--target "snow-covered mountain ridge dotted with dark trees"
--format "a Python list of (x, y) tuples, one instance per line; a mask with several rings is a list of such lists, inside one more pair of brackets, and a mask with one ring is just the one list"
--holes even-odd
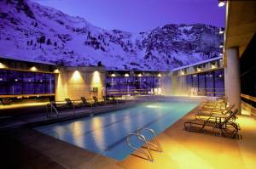
[(0, 0), (0, 56), (5, 57), (62, 65), (101, 61), (108, 70), (171, 70), (217, 57), (222, 41), (212, 25), (108, 31), (29, 0)]

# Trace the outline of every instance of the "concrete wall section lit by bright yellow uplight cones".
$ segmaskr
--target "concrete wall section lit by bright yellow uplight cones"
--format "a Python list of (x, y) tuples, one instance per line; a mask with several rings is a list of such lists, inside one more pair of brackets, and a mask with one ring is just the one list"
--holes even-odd
[(82, 96), (86, 99), (92, 96), (102, 98), (105, 92), (105, 73), (105, 68), (97, 66), (59, 68), (55, 81), (55, 100), (80, 99)]

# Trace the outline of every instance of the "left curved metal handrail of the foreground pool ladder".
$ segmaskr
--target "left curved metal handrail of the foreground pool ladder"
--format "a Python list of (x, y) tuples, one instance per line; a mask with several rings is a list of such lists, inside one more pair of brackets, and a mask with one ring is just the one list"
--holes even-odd
[[(136, 147), (134, 147), (133, 145), (131, 145), (131, 143), (130, 143), (130, 137), (131, 137), (131, 136), (137, 136), (137, 138), (138, 138), (139, 140), (143, 141), (143, 143), (146, 144), (147, 149), (148, 149), (148, 154), (147, 154), (145, 151), (140, 150), (140, 149), (137, 149)], [(131, 147), (131, 149), (135, 149), (135, 150), (137, 150), (137, 152), (142, 153), (143, 155), (146, 155), (146, 156), (148, 157), (148, 161), (154, 162), (154, 158), (153, 158), (153, 156), (151, 155), (150, 149), (149, 149), (149, 147), (148, 147), (148, 142), (146, 141), (146, 138), (145, 138), (143, 135), (138, 134), (138, 133), (130, 133), (130, 134), (126, 137), (126, 143), (128, 144), (128, 146)]]

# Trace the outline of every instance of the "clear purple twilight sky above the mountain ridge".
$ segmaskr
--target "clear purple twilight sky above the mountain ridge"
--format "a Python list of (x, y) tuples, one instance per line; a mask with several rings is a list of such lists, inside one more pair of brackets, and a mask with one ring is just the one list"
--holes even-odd
[(166, 24), (204, 23), (224, 27), (218, 0), (34, 0), (112, 30), (148, 31)]

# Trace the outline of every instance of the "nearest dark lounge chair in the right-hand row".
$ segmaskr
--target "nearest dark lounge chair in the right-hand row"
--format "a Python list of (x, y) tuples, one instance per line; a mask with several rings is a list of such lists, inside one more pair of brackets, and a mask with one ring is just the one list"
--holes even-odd
[(189, 132), (206, 132), (206, 127), (211, 127), (212, 129), (217, 128), (220, 130), (222, 136), (235, 138), (237, 132), (240, 130), (239, 125), (235, 122), (237, 112), (238, 110), (231, 111), (230, 115), (226, 115), (224, 121), (212, 121), (212, 116), (209, 116), (207, 120), (189, 120), (184, 122), (184, 127)]

